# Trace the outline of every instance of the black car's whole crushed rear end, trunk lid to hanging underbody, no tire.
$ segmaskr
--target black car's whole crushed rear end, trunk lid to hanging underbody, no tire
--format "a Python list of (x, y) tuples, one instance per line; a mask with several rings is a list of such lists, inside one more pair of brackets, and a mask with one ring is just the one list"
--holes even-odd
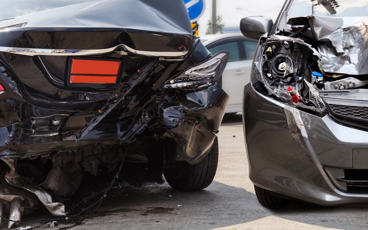
[[(229, 53), (212, 56), (193, 37), (183, 1), (165, 6), (109, 0), (1, 22), (0, 215), (13, 210), (9, 228), (38, 201), (71, 217), (208, 154), (227, 105), (218, 80)], [(139, 26), (126, 25), (132, 18)]]

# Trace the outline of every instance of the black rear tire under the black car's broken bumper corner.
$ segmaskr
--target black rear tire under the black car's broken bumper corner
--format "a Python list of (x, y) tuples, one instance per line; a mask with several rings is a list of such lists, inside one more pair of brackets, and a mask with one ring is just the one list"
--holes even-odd
[(198, 164), (180, 162), (177, 167), (164, 169), (167, 183), (179, 191), (197, 191), (207, 188), (213, 181), (219, 160), (219, 143), (213, 141), (208, 155)]

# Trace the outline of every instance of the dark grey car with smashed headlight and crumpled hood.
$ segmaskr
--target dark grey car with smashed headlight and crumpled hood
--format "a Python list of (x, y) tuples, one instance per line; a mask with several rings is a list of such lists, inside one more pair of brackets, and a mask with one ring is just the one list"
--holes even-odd
[(261, 205), (368, 201), (368, 2), (287, 0), (275, 24), (248, 17), (260, 38), (243, 123)]

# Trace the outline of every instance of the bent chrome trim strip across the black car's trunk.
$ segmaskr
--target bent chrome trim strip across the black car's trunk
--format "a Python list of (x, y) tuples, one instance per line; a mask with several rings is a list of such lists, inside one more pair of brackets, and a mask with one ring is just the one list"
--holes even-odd
[[(123, 48), (127, 52), (151, 56), (151, 57), (180, 57), (185, 56), (188, 51), (184, 52), (154, 52), (145, 50), (135, 50), (124, 44), (114, 46), (107, 49), (88, 49), (88, 50), (60, 50), (60, 49), (31, 49), (31, 48), (14, 48), (14, 47), (3, 47), (0, 46), (0, 52), (22, 54), (27, 56), (37, 56), (37, 55), (52, 55), (52, 56), (78, 56), (78, 55), (96, 55), (114, 52), (118, 48)], [(120, 52), (125, 54), (125, 52)]]

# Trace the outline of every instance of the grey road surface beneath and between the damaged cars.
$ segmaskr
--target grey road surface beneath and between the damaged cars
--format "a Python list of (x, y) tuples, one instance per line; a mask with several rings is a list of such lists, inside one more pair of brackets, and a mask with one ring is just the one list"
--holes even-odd
[(367, 229), (367, 205), (321, 207), (291, 202), (284, 210), (263, 208), (248, 178), (241, 115), (226, 116), (218, 136), (219, 166), (205, 190), (178, 192), (167, 183), (146, 184), (141, 190), (107, 197), (97, 212), (84, 215), (87, 219), (72, 230)]

